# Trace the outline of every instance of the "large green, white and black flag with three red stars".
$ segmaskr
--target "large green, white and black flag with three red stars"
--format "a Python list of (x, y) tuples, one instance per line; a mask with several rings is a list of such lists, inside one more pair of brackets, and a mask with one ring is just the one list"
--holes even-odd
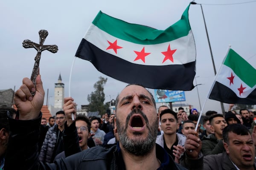
[(155, 89), (192, 90), (196, 51), (188, 11), (189, 6), (181, 19), (166, 30), (127, 23), (99, 11), (76, 57), (122, 82)]

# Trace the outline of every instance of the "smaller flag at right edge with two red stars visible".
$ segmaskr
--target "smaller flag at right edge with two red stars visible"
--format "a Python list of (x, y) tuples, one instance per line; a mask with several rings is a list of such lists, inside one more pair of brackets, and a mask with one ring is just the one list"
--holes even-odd
[(256, 69), (230, 49), (216, 76), (209, 99), (256, 105)]

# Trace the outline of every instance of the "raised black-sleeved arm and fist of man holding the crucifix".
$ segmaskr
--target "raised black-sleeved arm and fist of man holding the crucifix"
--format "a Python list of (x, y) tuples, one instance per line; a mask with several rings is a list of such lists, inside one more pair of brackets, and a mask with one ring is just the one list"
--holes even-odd
[[(38, 138), (44, 89), (40, 75), (36, 79), (36, 88), (29, 78), (24, 78), (22, 82), (14, 96), (18, 109), (16, 119), (9, 117), (11, 133), (5, 170), (35, 170), (39, 167)], [(35, 92), (35, 95), (32, 96), (31, 92)]]

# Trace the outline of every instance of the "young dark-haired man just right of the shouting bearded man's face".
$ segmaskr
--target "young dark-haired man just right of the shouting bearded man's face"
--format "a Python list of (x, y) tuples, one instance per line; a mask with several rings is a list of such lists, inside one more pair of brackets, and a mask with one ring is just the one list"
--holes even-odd
[(165, 109), (160, 113), (161, 129), (163, 134), (157, 136), (156, 143), (162, 146), (175, 162), (180, 163), (183, 154), (186, 137), (176, 133), (179, 128), (177, 113), (171, 109)]

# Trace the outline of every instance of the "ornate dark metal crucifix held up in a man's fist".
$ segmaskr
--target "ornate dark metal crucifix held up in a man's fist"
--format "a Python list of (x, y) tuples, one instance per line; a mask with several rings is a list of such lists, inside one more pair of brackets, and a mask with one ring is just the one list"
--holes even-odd
[[(57, 45), (43, 45), (47, 36), (48, 36), (48, 31), (42, 29), (39, 31), (39, 37), (40, 37), (39, 44), (32, 42), (30, 40), (24, 40), (22, 42), (22, 45), (24, 48), (35, 48), (38, 51), (35, 56), (35, 64), (34, 64), (32, 74), (31, 74), (31, 78), (30, 78), (31, 81), (34, 83), (34, 85), (36, 83), (35, 79), (38, 75), (39, 62), (41, 59), (41, 52), (44, 50), (48, 50), (52, 53), (56, 53), (58, 51)], [(35, 94), (32, 93), (32, 95), (35, 95)]]

